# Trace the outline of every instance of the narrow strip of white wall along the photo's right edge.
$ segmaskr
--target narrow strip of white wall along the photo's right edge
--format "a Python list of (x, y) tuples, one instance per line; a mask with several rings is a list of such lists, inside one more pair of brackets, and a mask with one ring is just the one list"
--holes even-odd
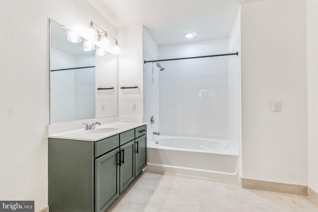
[(318, 193), (318, 1), (307, 0), (308, 186)]

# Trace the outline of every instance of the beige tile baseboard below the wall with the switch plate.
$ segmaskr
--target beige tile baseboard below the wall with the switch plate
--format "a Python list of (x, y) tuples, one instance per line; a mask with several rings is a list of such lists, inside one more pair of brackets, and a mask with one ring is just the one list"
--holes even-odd
[(261, 180), (251, 180), (241, 178), (241, 186), (245, 189), (255, 189), (263, 191), (280, 192), (286, 194), (295, 194), (300, 196), (308, 196), (308, 186), (274, 183)]

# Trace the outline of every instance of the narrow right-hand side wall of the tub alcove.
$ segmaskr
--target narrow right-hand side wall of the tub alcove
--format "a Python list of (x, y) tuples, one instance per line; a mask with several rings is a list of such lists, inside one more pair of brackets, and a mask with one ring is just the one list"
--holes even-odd
[(240, 138), (240, 10), (229, 35), (229, 53), (239, 56), (228, 57), (228, 139), (239, 150)]

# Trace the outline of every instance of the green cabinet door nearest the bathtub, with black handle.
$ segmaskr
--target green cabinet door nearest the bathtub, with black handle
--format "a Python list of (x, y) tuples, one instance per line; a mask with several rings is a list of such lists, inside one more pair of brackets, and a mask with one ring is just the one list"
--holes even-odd
[(147, 135), (135, 140), (135, 177), (147, 165)]

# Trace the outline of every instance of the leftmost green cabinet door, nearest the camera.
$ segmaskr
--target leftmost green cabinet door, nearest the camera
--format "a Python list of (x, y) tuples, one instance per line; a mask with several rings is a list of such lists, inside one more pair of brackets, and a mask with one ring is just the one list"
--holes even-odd
[(119, 148), (95, 159), (95, 212), (104, 212), (118, 196)]

